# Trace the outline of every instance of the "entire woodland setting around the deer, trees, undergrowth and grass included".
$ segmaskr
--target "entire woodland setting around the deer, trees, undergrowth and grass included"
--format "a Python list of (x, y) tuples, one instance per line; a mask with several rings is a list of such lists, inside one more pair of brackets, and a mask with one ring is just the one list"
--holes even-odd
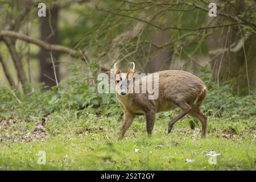
[[(46, 17), (39, 3), (0, 0), (0, 169), (255, 169), (254, 0), (44, 1)], [(116, 142), (122, 112), (114, 94), (97, 93), (97, 75), (131, 61), (204, 80), (208, 139), (191, 118), (167, 135), (175, 110), (158, 114), (155, 137), (139, 117)]]

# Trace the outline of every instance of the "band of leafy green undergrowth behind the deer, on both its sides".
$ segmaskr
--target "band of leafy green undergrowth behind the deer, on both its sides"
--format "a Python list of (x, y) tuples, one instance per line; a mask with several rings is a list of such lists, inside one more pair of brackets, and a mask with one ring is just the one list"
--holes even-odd
[[(82, 68), (75, 65), (69, 70), (73, 76), (67, 81), (61, 82), (59, 86), (53, 86), (51, 90), (42, 91), (44, 84), (26, 84), (26, 90), (31, 91), (24, 94), (18, 90), (11, 92), (9, 88), (1, 88), (0, 114), (5, 117), (18, 114), (33, 120), (35, 117), (42, 118), (44, 115), (63, 110), (75, 110), (79, 113), (80, 110), (86, 109), (98, 116), (115, 116), (117, 120), (121, 120), (122, 110), (115, 95), (97, 93), (97, 65), (91, 62), (88, 64), (88, 69), (89, 72), (85, 78)], [(206, 84), (208, 84), (209, 75), (210, 72), (202, 70), (200, 77)], [(208, 95), (202, 109), (207, 111), (208, 115), (230, 118), (233, 121), (255, 117), (255, 92), (237, 97), (232, 93), (232, 86), (233, 84), (230, 82), (220, 86), (215, 82), (210, 82)], [(170, 112), (164, 114), (170, 115)]]

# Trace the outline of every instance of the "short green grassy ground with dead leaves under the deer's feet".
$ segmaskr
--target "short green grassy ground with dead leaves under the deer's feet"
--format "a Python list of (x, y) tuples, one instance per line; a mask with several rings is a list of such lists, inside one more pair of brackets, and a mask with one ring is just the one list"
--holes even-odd
[(147, 137), (139, 117), (120, 142), (118, 119), (88, 119), (86, 129), (89, 124), (75, 118), (55, 116), (46, 124), (2, 119), (0, 170), (256, 170), (250, 119), (209, 118), (207, 138), (201, 139), (201, 126), (191, 118), (167, 134), (168, 119), (158, 116)]

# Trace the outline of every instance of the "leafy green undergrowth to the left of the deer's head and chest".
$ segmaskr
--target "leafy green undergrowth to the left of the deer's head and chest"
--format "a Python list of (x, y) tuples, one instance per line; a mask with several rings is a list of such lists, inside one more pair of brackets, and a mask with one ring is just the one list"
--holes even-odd
[[(120, 115), (117, 101), (114, 94), (98, 94), (97, 80), (95, 75), (98, 72), (97, 65), (93, 62), (88, 64), (88, 79), (83, 80), (82, 68), (74, 65), (69, 71), (73, 76), (63, 81), (59, 86), (53, 86), (51, 90), (44, 90), (44, 84), (26, 84), (27, 93), (18, 90), (11, 92), (7, 88), (0, 89), (0, 112), (5, 117), (18, 114), (26, 119), (31, 116), (42, 118), (54, 112), (61, 112), (65, 109), (82, 110), (89, 109), (101, 115)], [(15, 96), (20, 100), (16, 100)]]

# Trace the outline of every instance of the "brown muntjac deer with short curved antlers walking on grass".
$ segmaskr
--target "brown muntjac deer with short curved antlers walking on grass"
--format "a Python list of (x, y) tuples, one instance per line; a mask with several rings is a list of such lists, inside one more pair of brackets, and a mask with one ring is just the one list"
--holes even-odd
[(126, 88), (126, 85), (132, 84), (132, 89), (134, 89), (134, 85), (137, 83), (142, 89), (143, 84), (148, 84), (148, 80), (152, 80), (147, 79), (150, 75), (134, 80), (139, 73), (135, 73), (135, 64), (132, 64), (133, 69), (129, 69), (127, 73), (122, 73), (120, 69), (117, 69), (116, 64), (114, 65), (114, 72), (106, 72), (109, 77), (114, 76), (115, 93), (124, 113), (124, 121), (118, 140), (124, 137), (136, 115), (146, 116), (147, 133), (151, 135), (156, 113), (175, 107), (180, 107), (182, 111), (168, 123), (168, 133), (172, 131), (172, 127), (180, 118), (189, 114), (191, 117), (199, 119), (202, 124), (201, 138), (205, 138), (207, 116), (200, 110), (200, 106), (207, 95), (207, 86), (204, 82), (199, 77), (185, 71), (166, 70), (152, 73), (151, 75), (157, 74), (159, 78), (159, 96), (155, 100), (149, 100), (148, 95), (150, 93), (148, 90), (146, 93), (135, 93), (130, 92), (134, 91), (129, 90), (131, 89), (130, 86)]

